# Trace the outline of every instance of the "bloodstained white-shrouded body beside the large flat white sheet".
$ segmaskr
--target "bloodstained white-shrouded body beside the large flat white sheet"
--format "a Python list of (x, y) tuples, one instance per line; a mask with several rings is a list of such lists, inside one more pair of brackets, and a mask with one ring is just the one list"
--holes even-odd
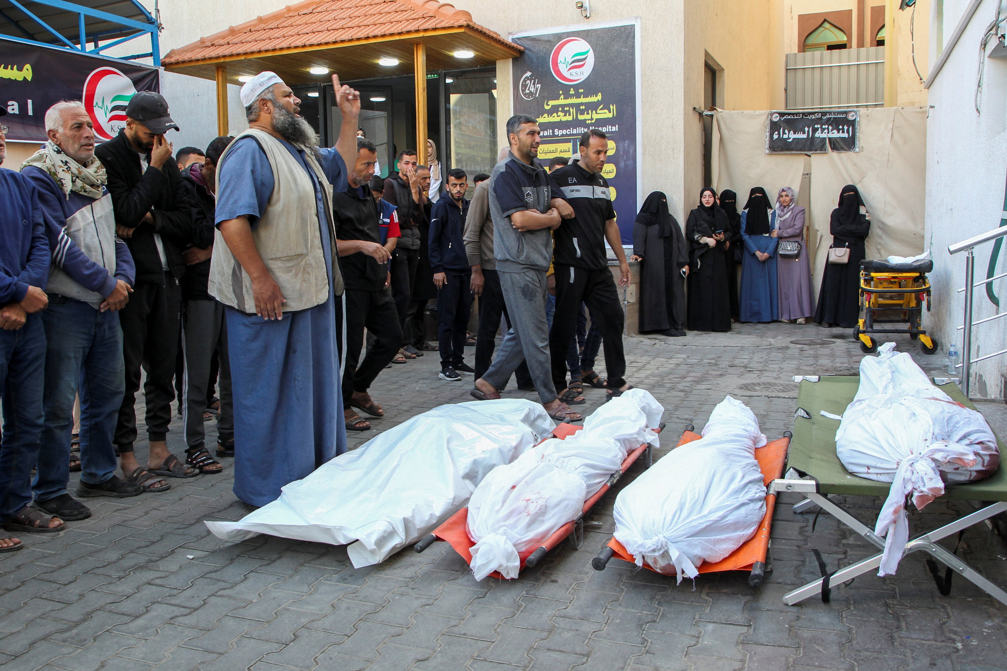
[(658, 445), (652, 428), (665, 408), (643, 389), (629, 389), (584, 421), (566, 440), (552, 439), (498, 466), (468, 503), (472, 573), (481, 580), (497, 570), (518, 577), (520, 552), (538, 547), (580, 516), (584, 501), (644, 443)]

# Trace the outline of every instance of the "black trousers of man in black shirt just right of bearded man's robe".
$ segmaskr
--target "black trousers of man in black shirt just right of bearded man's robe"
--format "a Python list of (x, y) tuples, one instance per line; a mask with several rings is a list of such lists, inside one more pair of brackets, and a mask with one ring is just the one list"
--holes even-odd
[[(395, 310), (392, 292), (386, 287), (380, 291), (347, 289), (346, 293), (346, 352), (345, 370), (342, 373), (342, 407), (349, 407), (350, 396), (371, 388), (378, 374), (392, 362), (402, 347), (402, 327)], [(364, 347), (364, 329), (374, 333), (374, 347), (361, 359)], [(357, 362), (359, 366), (357, 367)]]

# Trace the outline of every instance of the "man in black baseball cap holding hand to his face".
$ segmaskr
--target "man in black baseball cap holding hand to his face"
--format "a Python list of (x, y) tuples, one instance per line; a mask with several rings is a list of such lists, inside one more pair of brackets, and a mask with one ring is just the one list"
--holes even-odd
[[(108, 189), (116, 215), (116, 232), (126, 240), (136, 263), (130, 302), (119, 313), (126, 363), (126, 393), (119, 410), (115, 444), (123, 474), (142, 480), (146, 471), (133, 456), (137, 438), (136, 392), (140, 368), (147, 370), (147, 470), (163, 478), (188, 478), (198, 470), (168, 452), (167, 433), (174, 399), (175, 356), (181, 310), (179, 280), (185, 273), (181, 250), (192, 242), (201, 210), (191, 201), (164, 134), (178, 130), (168, 104), (157, 93), (134, 94), (126, 107), (126, 128), (95, 150), (108, 172)], [(132, 474), (132, 475), (130, 475)], [(167, 489), (167, 481), (150, 479), (145, 491)]]

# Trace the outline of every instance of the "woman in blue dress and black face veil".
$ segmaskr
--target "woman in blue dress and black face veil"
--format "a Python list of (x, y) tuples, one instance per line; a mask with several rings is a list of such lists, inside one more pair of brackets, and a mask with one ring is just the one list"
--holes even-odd
[(776, 293), (776, 244), (770, 233), (776, 228), (776, 213), (761, 186), (752, 188), (741, 212), (741, 321), (771, 322), (779, 319)]

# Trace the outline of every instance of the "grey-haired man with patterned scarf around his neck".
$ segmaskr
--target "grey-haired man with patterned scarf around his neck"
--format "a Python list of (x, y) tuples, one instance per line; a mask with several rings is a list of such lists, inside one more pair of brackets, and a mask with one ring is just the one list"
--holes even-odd
[[(136, 496), (141, 482), (115, 475), (112, 445), (125, 388), (119, 313), (135, 279), (133, 258), (116, 236), (105, 167), (95, 156), (95, 132), (79, 102), (45, 113), (48, 141), (21, 174), (38, 189), (52, 249), (45, 326), (45, 391), (35, 505), (63, 520), (91, 511), (66, 491), (74, 397), (81, 393), (81, 462), (77, 495)], [(156, 476), (148, 476), (156, 479)], [(134, 478), (135, 479), (135, 478)]]

